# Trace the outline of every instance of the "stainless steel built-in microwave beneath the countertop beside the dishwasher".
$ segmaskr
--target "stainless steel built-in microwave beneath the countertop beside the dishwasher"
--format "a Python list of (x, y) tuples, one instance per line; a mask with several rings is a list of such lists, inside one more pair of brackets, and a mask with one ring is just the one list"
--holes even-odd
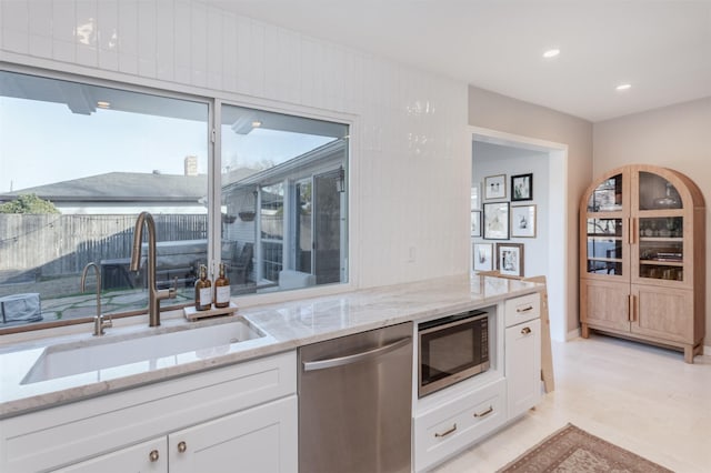
[(489, 370), (489, 313), (469, 311), (418, 324), (422, 397)]

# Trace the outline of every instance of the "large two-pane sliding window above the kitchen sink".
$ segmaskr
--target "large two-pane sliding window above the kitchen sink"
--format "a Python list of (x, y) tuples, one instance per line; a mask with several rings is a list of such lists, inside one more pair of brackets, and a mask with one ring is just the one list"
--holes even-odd
[(234, 295), (347, 280), (348, 125), (222, 105), (218, 154), (216, 103), (0, 71), (0, 333), (89, 322), (90, 263), (103, 313), (144, 312), (146, 243), (129, 271), (142, 211), (158, 285), (178, 286), (163, 308), (191, 304), (199, 265), (220, 261)]

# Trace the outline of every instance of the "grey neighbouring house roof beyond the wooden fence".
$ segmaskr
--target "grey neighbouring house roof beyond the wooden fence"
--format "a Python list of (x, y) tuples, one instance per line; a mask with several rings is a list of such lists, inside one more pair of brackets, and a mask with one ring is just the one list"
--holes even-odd
[(208, 193), (208, 177), (109, 172), (0, 193), (0, 203), (21, 194), (61, 202), (198, 202)]

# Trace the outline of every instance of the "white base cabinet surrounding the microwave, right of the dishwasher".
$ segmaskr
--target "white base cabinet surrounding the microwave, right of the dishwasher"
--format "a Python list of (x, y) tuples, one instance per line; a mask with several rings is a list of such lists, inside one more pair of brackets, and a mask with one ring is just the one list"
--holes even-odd
[(491, 368), (487, 372), (422, 399), (417, 397), (414, 386), (417, 472), (429, 471), (480, 442), (540, 400), (540, 294), (508, 299), (497, 304), (495, 312), (490, 321)]

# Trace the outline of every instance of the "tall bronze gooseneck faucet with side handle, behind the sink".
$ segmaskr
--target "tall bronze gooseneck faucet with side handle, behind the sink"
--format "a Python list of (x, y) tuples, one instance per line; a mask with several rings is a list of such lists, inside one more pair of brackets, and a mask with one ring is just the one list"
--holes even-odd
[(160, 301), (174, 299), (177, 289), (158, 290), (156, 286), (156, 221), (149, 212), (141, 212), (133, 230), (133, 248), (131, 250), (131, 271), (138, 271), (141, 264), (141, 241), (143, 224), (148, 227), (148, 326), (160, 325)]

